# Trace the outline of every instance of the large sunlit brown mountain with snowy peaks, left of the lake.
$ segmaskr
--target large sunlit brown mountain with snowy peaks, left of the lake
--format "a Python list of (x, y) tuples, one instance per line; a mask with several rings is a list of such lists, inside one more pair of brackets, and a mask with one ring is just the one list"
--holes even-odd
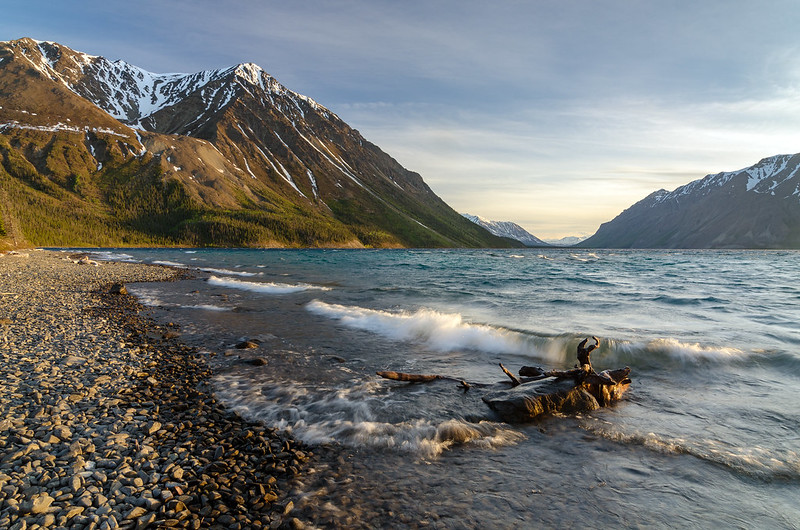
[(12, 245), (511, 244), (252, 63), (153, 74), (2, 42), (0, 162)]

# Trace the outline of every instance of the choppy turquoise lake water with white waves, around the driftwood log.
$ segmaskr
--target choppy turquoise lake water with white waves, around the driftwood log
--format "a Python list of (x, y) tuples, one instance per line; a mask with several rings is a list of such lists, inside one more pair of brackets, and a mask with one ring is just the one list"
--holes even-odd
[[(215, 354), (230, 406), (346, 455), (352, 480), (310, 478), (307, 506), (360, 502), (373, 526), (800, 528), (798, 252), (99, 254), (191, 269), (130, 290)], [(598, 371), (630, 366), (633, 384), (577, 417), (508, 425), (478, 389), (375, 375), (499, 383), (501, 362), (572, 367), (589, 336)]]

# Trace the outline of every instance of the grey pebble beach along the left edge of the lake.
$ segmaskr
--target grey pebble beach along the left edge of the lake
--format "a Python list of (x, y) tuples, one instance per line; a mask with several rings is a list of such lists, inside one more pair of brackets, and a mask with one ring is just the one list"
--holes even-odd
[(176, 274), (0, 255), (0, 528), (304, 526), (308, 450), (226, 411), (177, 326), (112, 289)]

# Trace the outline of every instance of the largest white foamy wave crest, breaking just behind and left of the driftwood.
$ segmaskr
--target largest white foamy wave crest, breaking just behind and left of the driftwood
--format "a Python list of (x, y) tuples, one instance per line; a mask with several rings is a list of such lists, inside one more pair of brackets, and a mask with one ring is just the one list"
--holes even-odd
[(538, 355), (525, 335), (484, 324), (465, 322), (459, 314), (430, 309), (388, 312), (314, 300), (307, 309), (336, 319), (345, 326), (377, 333), (394, 340), (418, 341), (437, 351), (471, 349), (483, 352)]

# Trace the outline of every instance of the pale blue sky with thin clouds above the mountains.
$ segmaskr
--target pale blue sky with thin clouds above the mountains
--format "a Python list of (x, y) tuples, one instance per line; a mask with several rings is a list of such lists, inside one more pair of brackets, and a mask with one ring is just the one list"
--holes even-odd
[(156, 73), (256, 63), (457, 211), (541, 238), (800, 152), (795, 0), (5, 4), (0, 40)]

